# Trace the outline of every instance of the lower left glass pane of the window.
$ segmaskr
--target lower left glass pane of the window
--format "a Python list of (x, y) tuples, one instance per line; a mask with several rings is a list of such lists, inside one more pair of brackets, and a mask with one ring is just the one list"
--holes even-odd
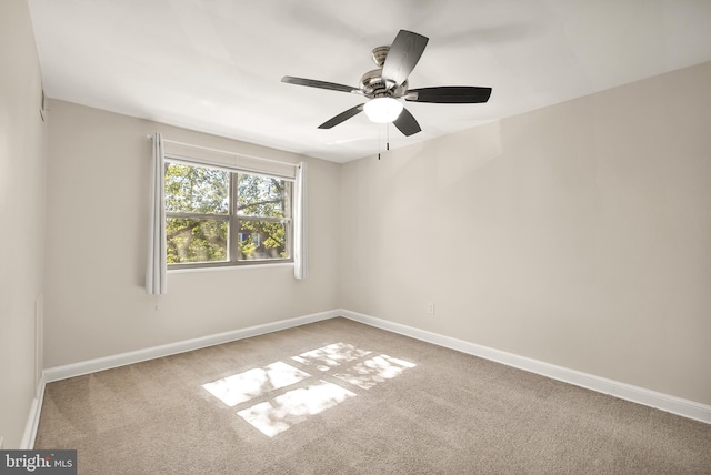
[(168, 264), (227, 261), (227, 221), (168, 218)]

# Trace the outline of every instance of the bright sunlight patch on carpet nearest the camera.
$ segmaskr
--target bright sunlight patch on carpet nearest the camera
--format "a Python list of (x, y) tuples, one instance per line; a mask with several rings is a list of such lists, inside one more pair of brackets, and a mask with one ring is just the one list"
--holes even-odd
[(266, 403), (239, 411), (237, 414), (268, 437), (280, 434), (349, 397), (352, 393), (337, 384), (319, 381), (308, 387), (289, 391)]

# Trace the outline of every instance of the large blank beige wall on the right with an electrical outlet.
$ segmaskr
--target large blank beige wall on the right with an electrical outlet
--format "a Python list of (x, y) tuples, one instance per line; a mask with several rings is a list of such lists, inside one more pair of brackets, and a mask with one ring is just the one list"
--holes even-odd
[(711, 404), (710, 127), (705, 63), (348, 163), (341, 304)]

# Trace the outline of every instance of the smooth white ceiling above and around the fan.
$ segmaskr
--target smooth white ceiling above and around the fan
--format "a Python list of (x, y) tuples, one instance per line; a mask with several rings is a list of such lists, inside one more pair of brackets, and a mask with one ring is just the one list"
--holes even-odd
[(336, 162), (384, 148), (357, 85), (400, 29), (430, 38), (411, 88), (485, 85), (485, 104), (405, 103), (392, 148), (711, 60), (711, 0), (29, 0), (50, 98)]

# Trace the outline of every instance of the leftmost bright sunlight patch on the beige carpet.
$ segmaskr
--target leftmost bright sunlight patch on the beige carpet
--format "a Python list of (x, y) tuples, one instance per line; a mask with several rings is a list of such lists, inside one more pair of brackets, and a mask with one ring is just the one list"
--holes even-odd
[(263, 367), (246, 371), (203, 384), (210, 394), (232, 407), (271, 391), (296, 384), (309, 373), (278, 361)]

